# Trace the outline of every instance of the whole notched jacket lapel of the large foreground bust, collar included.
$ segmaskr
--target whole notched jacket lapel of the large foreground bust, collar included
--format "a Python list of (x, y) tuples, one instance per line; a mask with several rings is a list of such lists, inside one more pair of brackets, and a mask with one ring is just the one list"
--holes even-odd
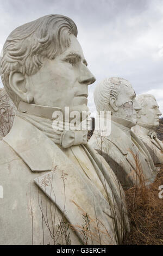
[[(18, 136), (17, 130), (20, 131)], [(87, 214), (94, 234), (93, 243), (116, 244), (114, 216), (108, 202), (51, 139), (27, 121), (15, 117), (10, 133), (3, 140), (33, 172), (49, 171), (35, 179), (35, 183), (58, 206), (80, 239), (83, 239), (83, 214)], [(102, 231), (100, 237), (98, 229)]]

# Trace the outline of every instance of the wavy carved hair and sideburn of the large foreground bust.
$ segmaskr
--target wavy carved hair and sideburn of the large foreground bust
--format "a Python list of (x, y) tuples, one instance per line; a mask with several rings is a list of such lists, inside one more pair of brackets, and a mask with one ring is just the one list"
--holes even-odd
[(20, 98), (9, 85), (11, 71), (34, 75), (43, 65), (43, 59), (54, 59), (71, 44), (70, 34), (77, 37), (76, 24), (62, 15), (47, 15), (17, 27), (3, 46), (0, 74), (7, 93), (18, 105)]

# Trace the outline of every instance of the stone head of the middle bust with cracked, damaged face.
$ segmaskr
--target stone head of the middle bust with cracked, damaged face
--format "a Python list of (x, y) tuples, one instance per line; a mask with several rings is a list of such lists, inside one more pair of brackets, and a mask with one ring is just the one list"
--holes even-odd
[(111, 111), (115, 117), (131, 121), (134, 110), (141, 109), (135, 97), (130, 82), (119, 77), (106, 78), (97, 84), (94, 92), (97, 112)]

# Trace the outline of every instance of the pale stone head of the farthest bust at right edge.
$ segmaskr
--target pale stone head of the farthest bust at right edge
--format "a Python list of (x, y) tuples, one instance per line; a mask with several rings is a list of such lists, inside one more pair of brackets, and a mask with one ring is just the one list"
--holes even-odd
[(141, 110), (137, 112), (138, 123), (143, 123), (147, 126), (159, 126), (159, 110), (158, 103), (152, 94), (141, 94), (136, 96), (136, 100), (141, 106)]

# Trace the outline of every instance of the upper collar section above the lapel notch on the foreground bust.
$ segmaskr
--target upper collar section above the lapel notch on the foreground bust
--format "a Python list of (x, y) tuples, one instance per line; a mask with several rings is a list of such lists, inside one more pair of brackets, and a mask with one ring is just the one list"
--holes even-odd
[(52, 170), (54, 143), (22, 118), (15, 117), (12, 129), (3, 141), (14, 149), (33, 172)]

